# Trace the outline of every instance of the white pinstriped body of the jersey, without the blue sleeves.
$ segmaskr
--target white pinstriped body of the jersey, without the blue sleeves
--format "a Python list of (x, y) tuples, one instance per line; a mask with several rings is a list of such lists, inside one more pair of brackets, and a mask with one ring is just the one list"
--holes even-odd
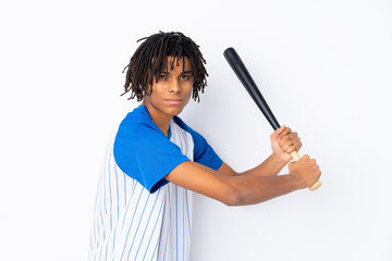
[[(171, 122), (171, 138), (193, 160), (192, 136)], [(111, 139), (102, 164), (88, 260), (187, 260), (192, 191), (167, 184), (149, 194), (115, 163)]]

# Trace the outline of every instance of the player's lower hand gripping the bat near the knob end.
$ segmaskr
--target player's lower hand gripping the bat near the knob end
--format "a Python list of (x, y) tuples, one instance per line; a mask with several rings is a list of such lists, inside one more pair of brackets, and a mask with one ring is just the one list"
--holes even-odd
[(307, 188), (319, 179), (321, 172), (316, 160), (306, 154), (299, 161), (289, 164), (289, 174), (298, 178), (301, 188)]

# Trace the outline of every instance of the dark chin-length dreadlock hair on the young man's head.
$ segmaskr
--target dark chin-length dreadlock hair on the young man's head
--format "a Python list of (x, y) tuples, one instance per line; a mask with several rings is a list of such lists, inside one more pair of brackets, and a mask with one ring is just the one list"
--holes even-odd
[(205, 69), (206, 60), (197, 46), (189, 37), (183, 35), (180, 32), (163, 33), (144, 37), (138, 41), (145, 40), (135, 51), (131, 58), (130, 64), (124, 67), (126, 71), (125, 77), (125, 91), (121, 95), (125, 95), (131, 91), (130, 99), (137, 98), (137, 101), (142, 101), (147, 95), (147, 87), (152, 86), (154, 76), (156, 76), (156, 83), (159, 80), (159, 75), (163, 70), (168, 70), (168, 57), (170, 58), (170, 70), (174, 69), (174, 61), (176, 60), (176, 66), (179, 66), (179, 60), (183, 59), (183, 70), (185, 66), (184, 57), (191, 60), (192, 76), (194, 78), (192, 98), (200, 101), (199, 91), (204, 92), (204, 88), (207, 86), (208, 76)]

